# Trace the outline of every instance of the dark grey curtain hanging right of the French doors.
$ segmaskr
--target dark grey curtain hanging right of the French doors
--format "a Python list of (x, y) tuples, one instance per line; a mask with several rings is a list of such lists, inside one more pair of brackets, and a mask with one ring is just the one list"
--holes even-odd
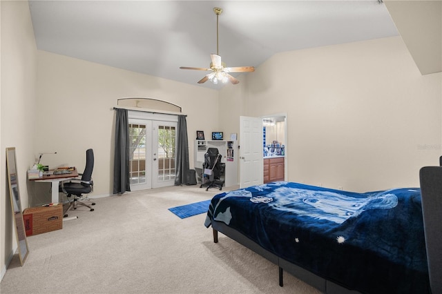
[(189, 184), (189, 142), (185, 115), (178, 115), (175, 186)]

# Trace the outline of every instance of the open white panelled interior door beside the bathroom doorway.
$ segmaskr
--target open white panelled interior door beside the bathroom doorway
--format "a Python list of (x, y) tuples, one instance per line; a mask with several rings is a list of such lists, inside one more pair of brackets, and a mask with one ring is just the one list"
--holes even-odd
[(240, 188), (262, 184), (262, 119), (240, 117)]

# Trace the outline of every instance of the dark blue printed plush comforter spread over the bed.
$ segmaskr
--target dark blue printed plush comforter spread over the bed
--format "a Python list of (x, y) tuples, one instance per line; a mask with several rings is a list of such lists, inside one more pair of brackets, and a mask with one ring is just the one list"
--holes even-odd
[(352, 193), (273, 182), (215, 195), (205, 226), (213, 221), (362, 293), (430, 293), (419, 188)]

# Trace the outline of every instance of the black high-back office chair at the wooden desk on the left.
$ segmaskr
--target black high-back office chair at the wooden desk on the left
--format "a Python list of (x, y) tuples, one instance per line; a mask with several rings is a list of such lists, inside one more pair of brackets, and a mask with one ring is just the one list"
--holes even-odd
[[(94, 182), (92, 180), (92, 171), (94, 169), (94, 152), (92, 149), (86, 150), (86, 167), (84, 168), (83, 173), (79, 173), (81, 175), (81, 179), (68, 179), (66, 181), (62, 181), (59, 186), (59, 191), (61, 193), (66, 194), (68, 197), (68, 201), (70, 202), (68, 209), (64, 212), (64, 217), (68, 216), (68, 210), (70, 208), (77, 209), (77, 204), (82, 206), (86, 206), (90, 209), (90, 211), (94, 211), (90, 205), (95, 205), (95, 202), (92, 202), (90, 205), (80, 202), (79, 198), (82, 197), (83, 194), (88, 194), (93, 191)], [(70, 201), (70, 197), (74, 195), (74, 199)]]

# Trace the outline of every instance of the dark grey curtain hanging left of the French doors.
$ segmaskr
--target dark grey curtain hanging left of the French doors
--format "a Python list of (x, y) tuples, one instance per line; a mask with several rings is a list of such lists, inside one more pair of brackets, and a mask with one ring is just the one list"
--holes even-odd
[(113, 164), (113, 193), (131, 190), (129, 181), (129, 121), (126, 109), (115, 109), (115, 156)]

